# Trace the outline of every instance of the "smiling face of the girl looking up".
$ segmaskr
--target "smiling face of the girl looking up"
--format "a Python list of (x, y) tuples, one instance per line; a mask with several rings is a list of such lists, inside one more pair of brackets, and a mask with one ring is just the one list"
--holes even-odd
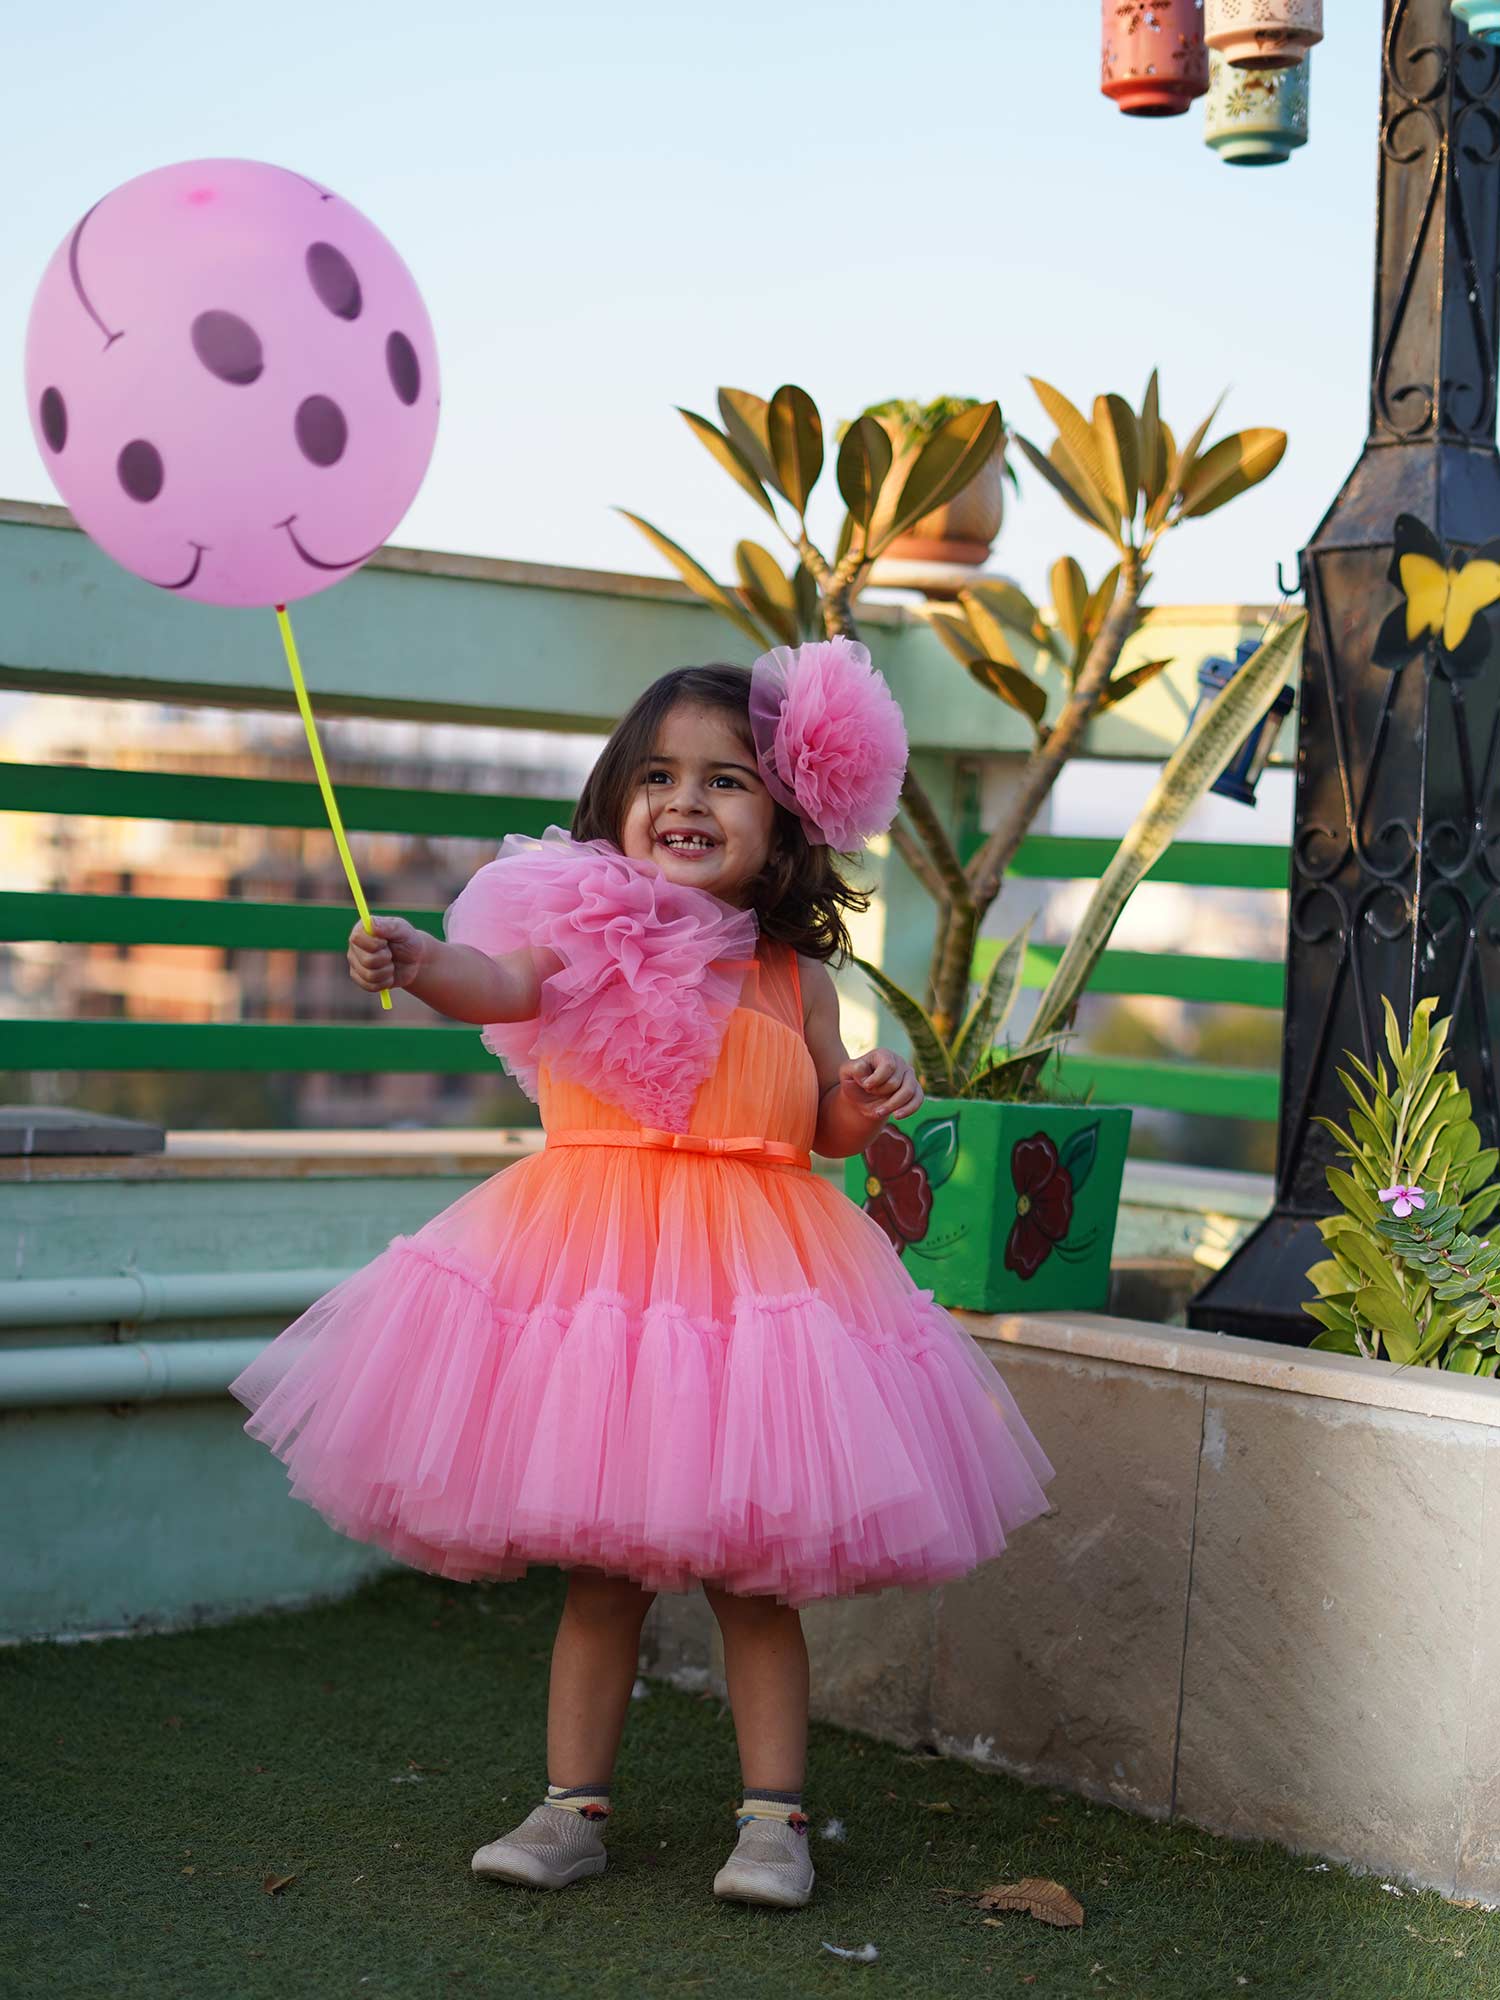
[(656, 730), (620, 828), (620, 848), (670, 882), (738, 904), (770, 856), (776, 800), (722, 708), (678, 702)]

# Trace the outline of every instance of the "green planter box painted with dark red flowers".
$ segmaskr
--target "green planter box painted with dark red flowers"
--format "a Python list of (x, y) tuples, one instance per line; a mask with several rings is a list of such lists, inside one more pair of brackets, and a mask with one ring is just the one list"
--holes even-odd
[(1130, 1112), (928, 1098), (846, 1162), (844, 1188), (940, 1306), (1098, 1312)]

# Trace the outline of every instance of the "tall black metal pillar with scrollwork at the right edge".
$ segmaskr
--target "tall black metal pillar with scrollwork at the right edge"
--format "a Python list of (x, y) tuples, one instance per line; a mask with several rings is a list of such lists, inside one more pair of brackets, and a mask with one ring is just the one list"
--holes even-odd
[[(1344, 1050), (1384, 1046), (1382, 996), (1454, 1014), (1454, 1056), (1500, 1142), (1500, 654), (1468, 682), (1372, 662), (1398, 514), (1468, 550), (1500, 534), (1500, 50), (1448, 0), (1386, 0), (1374, 358), (1364, 452), (1302, 552), (1276, 1208), (1188, 1308), (1192, 1326), (1306, 1344), (1300, 1304), (1332, 1210)], [(1316, 338), (1316, 328), (1308, 330)]]

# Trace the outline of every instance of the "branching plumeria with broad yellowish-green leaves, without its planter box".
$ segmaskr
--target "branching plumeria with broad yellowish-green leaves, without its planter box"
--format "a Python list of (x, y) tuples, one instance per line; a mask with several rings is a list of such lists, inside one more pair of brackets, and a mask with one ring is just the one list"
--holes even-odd
[[(1120, 672), (1126, 640), (1140, 624), (1142, 592), (1150, 582), (1148, 564), (1156, 548), (1184, 522), (1212, 514), (1258, 486), (1286, 450), (1286, 432), (1266, 428), (1234, 432), (1210, 446), (1208, 430), (1218, 406), (1178, 444), (1160, 414), (1154, 372), (1138, 410), (1124, 396), (1110, 394), (1098, 396), (1092, 416), (1084, 416), (1048, 382), (1032, 378), (1032, 388), (1056, 438), (1046, 450), (1018, 434), (1014, 444), (1074, 518), (1104, 536), (1110, 566), (1090, 588), (1074, 558), (1064, 556), (1054, 564), (1050, 620), (1014, 586), (966, 590), (956, 610), (924, 614), (964, 670), (996, 700), (1016, 708), (1032, 732), (1032, 750), (1002, 824), (986, 834), (968, 860), (960, 858), (924, 790), (916, 760), (902, 784), (902, 812), (890, 838), (936, 902), (926, 1014), (946, 1048), (952, 1048), (970, 1016), (970, 968), (984, 916), (1058, 774), (1082, 750), (1084, 732), (1100, 710), (1128, 698), (1170, 664), (1150, 660)], [(758, 542), (740, 542), (734, 550), (736, 590), (716, 582), (660, 528), (638, 514), (626, 512), (626, 520), (634, 522), (706, 604), (758, 648), (796, 646), (814, 636), (856, 640), (860, 594), (882, 552), (922, 516), (962, 494), (994, 462), (996, 450), (1012, 442), (996, 402), (970, 404), (956, 398), (950, 412), (936, 414), (920, 452), (896, 470), (884, 426), (868, 412), (858, 416), (842, 432), (836, 454), (844, 516), (830, 550), (818, 546), (808, 530), (808, 506), (826, 454), (824, 422), (806, 390), (784, 384), (766, 400), (748, 390), (722, 388), (718, 424), (696, 410), (682, 410), (680, 416), (760, 508), (788, 556)], [(888, 486), (896, 490), (894, 502)], [(1236, 674), (1220, 702), (1248, 674), (1248, 666)], [(1276, 688), (1266, 696), (1266, 706)], [(1242, 696), (1236, 702), (1244, 706)], [(1234, 706), (1232, 702), (1230, 708)], [(1220, 716), (1216, 730), (1226, 720)], [(1246, 716), (1238, 734), (1224, 744), (1218, 770), (1256, 720), (1258, 716)], [(1188, 798), (1176, 786), (1172, 804), (1186, 812), (1196, 796)], [(1156, 802), (1158, 824), (1166, 804), (1168, 800)]]

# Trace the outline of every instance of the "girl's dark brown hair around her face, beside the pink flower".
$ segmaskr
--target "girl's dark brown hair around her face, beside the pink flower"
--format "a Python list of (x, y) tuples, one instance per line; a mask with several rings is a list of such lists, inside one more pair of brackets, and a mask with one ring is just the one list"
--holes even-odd
[[(620, 716), (572, 816), (574, 840), (608, 840), (620, 846), (626, 812), (642, 768), (656, 746), (656, 732), (668, 710), (680, 702), (720, 708), (732, 718), (754, 760), (750, 734), (748, 666), (678, 666), (662, 674)], [(830, 848), (814, 846), (802, 822), (786, 806), (776, 806), (766, 866), (748, 884), (746, 900), (768, 938), (796, 946), (808, 958), (842, 964), (854, 950), (844, 910), (868, 910), (870, 892), (852, 888), (834, 864)]]

